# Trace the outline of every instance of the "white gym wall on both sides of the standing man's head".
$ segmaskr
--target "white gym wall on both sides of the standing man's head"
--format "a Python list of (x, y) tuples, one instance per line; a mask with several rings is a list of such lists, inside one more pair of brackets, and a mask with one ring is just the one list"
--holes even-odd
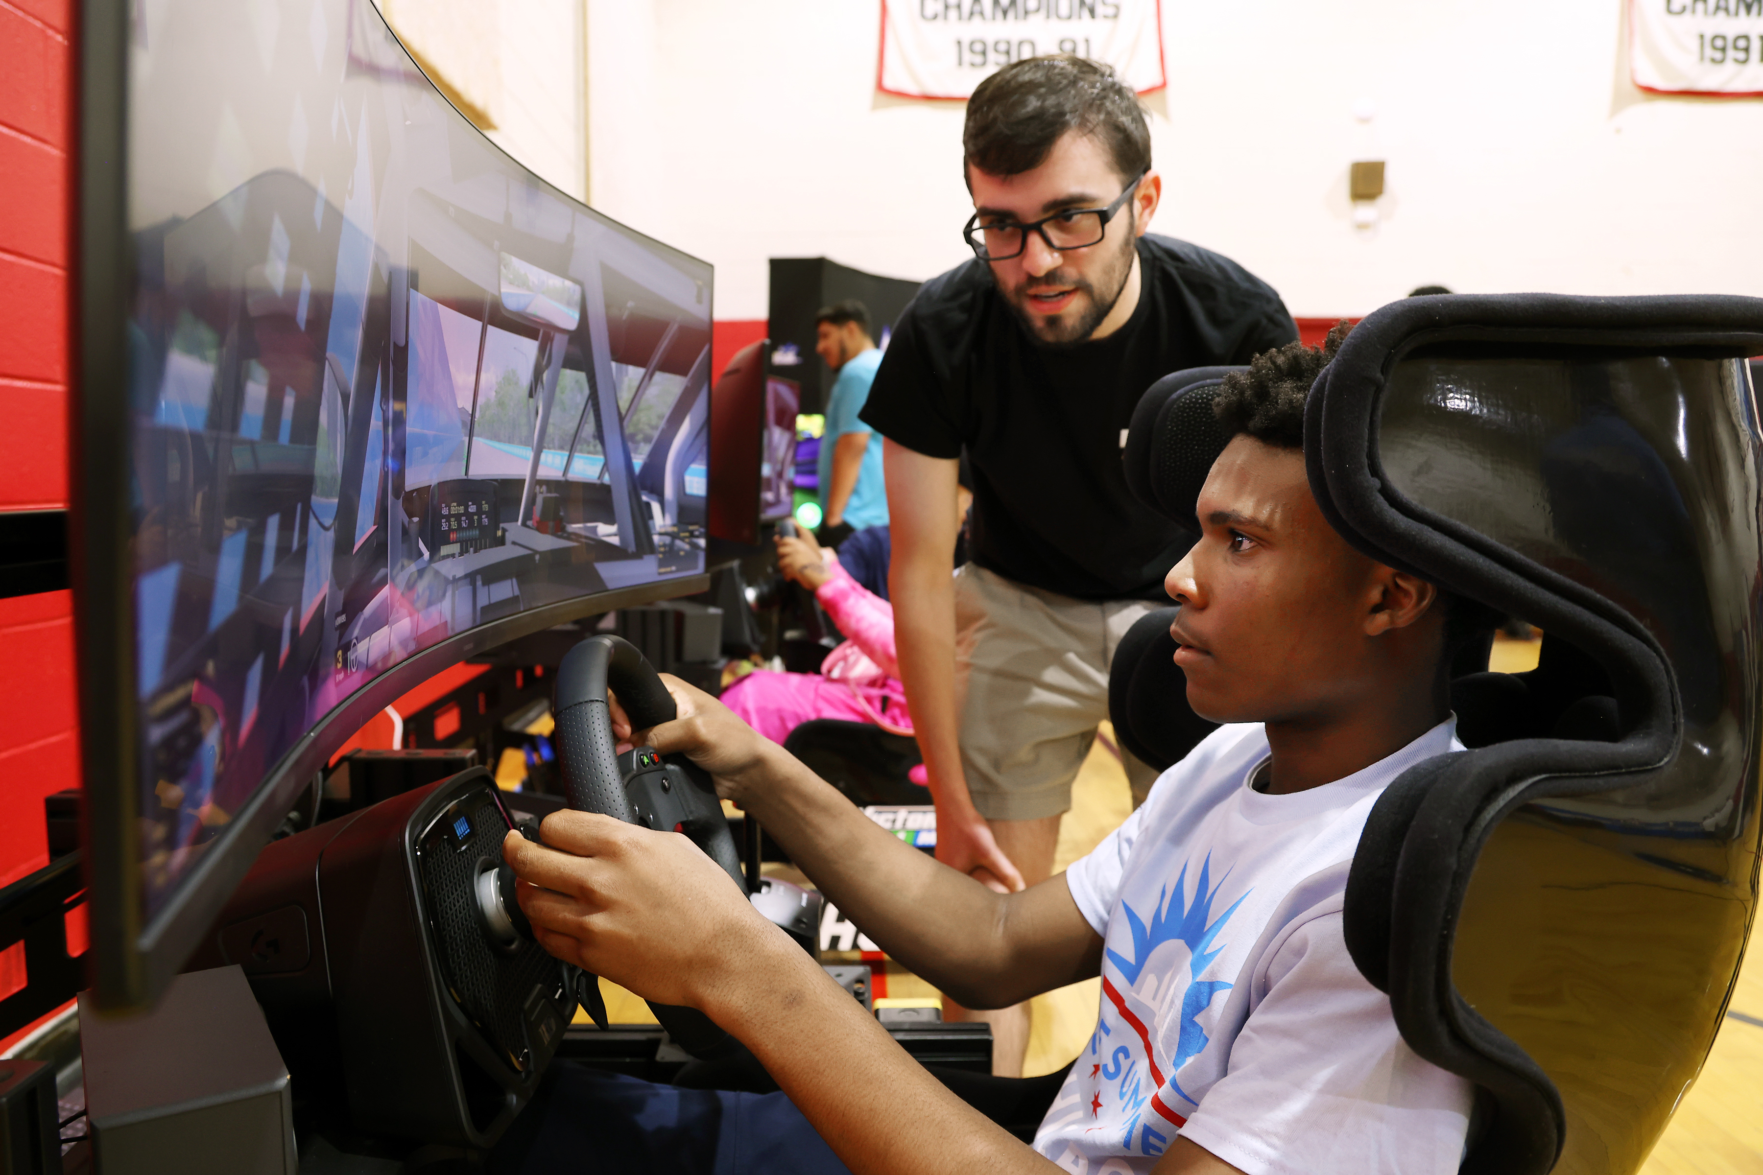
[[(874, 92), (878, 2), (585, 0), (591, 203), (712, 261), (719, 319), (765, 317), (767, 257), (964, 257), (963, 106)], [(1298, 315), (1432, 282), (1763, 294), (1763, 100), (1643, 95), (1620, 0), (1164, 0), (1164, 35), (1155, 227)], [(1354, 159), (1389, 164), (1375, 229)]]

